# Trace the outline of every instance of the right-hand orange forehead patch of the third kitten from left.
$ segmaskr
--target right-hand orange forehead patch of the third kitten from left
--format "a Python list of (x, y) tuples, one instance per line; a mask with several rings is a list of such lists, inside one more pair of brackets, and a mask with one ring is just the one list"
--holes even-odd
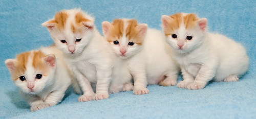
[(128, 20), (128, 26), (126, 28), (126, 37), (128, 37), (131, 42), (141, 45), (143, 38), (140, 35), (140, 31), (136, 26), (138, 26), (137, 20)]

